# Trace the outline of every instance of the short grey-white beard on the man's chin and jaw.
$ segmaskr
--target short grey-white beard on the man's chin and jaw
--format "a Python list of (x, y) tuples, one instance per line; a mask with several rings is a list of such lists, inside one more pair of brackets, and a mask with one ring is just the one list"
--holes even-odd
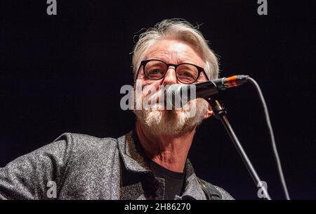
[[(151, 134), (180, 136), (185, 132), (195, 129), (201, 124), (204, 115), (209, 107), (205, 99), (195, 99), (189, 101), (182, 108), (166, 110), (162, 103), (154, 103), (152, 108), (134, 110), (141, 125), (151, 132)], [(187, 111), (193, 111), (195, 114), (187, 117)]]

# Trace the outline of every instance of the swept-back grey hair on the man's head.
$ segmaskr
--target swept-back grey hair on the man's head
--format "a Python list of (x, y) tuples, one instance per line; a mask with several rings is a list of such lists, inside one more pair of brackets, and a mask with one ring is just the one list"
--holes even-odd
[(145, 58), (150, 46), (162, 39), (178, 39), (192, 44), (205, 63), (204, 70), (209, 80), (218, 78), (218, 59), (209, 48), (208, 42), (204, 39), (202, 33), (197, 30), (197, 27), (194, 27), (186, 20), (167, 19), (162, 20), (162, 22), (140, 34), (138, 42), (133, 49), (134, 79), (136, 79), (140, 62)]

